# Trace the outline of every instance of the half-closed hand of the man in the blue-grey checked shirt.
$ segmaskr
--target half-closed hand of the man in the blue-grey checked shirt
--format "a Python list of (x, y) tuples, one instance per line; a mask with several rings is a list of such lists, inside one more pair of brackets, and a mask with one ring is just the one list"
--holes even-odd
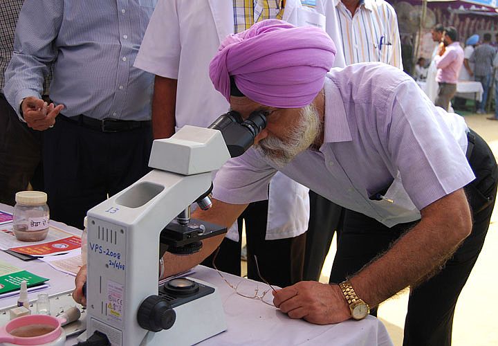
[(40, 98), (29, 96), (21, 103), (23, 118), (26, 120), (28, 127), (38, 131), (45, 131), (55, 124), (55, 117), (64, 109), (63, 104), (57, 107), (53, 103), (47, 104)]

